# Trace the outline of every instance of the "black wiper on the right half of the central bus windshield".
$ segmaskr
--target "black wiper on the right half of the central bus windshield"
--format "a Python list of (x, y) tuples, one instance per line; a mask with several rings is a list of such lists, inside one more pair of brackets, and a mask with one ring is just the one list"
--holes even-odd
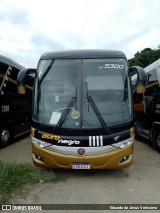
[(110, 134), (110, 130), (109, 130), (109, 128), (106, 126), (106, 123), (105, 123), (105, 121), (104, 121), (104, 119), (103, 119), (103, 117), (102, 117), (100, 111), (98, 110), (98, 108), (97, 108), (95, 102), (93, 101), (92, 97), (91, 97), (91, 96), (87, 96), (87, 98), (88, 98), (88, 101), (89, 101), (89, 103), (91, 104), (91, 106), (92, 106), (92, 108), (93, 108), (95, 114), (97, 115), (97, 118), (98, 118), (98, 120), (100, 121), (100, 123), (101, 123), (101, 125), (102, 125), (102, 127), (103, 127), (103, 129), (104, 129), (104, 131), (105, 131), (105, 133), (106, 133), (107, 135)]

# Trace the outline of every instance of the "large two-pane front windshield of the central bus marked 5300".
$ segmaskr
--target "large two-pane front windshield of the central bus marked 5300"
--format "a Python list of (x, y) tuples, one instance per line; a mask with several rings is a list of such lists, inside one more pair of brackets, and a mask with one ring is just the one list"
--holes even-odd
[(103, 128), (103, 120), (108, 128), (132, 120), (124, 58), (40, 60), (34, 92), (33, 119), (42, 124)]

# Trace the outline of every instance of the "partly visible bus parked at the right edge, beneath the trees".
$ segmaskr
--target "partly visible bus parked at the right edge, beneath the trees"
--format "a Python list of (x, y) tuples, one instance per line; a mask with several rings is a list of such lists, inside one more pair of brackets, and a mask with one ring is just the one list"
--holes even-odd
[[(160, 59), (146, 67), (148, 76), (143, 101), (134, 94), (134, 112), (137, 137), (150, 141), (160, 152)], [(132, 83), (135, 84), (135, 77)]]

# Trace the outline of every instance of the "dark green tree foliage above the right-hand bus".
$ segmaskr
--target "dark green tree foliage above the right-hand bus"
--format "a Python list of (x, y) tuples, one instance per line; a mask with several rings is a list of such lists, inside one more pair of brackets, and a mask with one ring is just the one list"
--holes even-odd
[(145, 48), (141, 52), (137, 52), (134, 55), (134, 58), (129, 59), (128, 63), (129, 66), (140, 66), (140, 67), (147, 67), (148, 65), (152, 64), (156, 60), (160, 58), (160, 49), (152, 50), (151, 48)]

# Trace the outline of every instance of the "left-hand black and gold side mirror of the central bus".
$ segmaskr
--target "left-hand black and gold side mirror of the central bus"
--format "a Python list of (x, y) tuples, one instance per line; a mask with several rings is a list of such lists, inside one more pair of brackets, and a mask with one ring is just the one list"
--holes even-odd
[(26, 77), (29, 74), (35, 74), (35, 72), (36, 72), (36, 69), (24, 68), (18, 73), (18, 76), (17, 76), (18, 94), (25, 95), (25, 93), (26, 93), (26, 88), (25, 88)]

